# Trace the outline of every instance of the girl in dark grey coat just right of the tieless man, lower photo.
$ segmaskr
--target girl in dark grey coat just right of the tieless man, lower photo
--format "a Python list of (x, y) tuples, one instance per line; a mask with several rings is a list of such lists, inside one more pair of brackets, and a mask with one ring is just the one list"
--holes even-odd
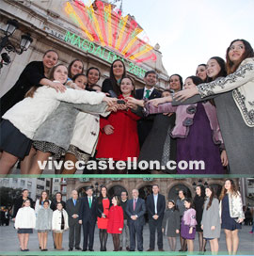
[(164, 214), (162, 232), (167, 235), (171, 251), (176, 250), (176, 237), (180, 232), (180, 214), (176, 210), (174, 200), (168, 200), (168, 208)]

